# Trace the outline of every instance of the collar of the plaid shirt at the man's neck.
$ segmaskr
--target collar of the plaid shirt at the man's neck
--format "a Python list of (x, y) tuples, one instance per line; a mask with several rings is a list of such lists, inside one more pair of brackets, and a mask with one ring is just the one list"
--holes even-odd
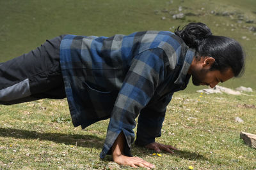
[(188, 48), (182, 69), (180, 71), (180, 74), (174, 82), (175, 84), (183, 84), (184, 83), (194, 56), (195, 56), (195, 50), (193, 48)]

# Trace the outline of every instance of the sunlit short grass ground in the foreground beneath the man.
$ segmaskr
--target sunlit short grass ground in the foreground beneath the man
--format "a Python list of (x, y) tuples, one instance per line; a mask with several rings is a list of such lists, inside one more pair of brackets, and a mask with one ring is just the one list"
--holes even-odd
[[(157, 141), (180, 151), (157, 157), (132, 146), (132, 154), (156, 169), (256, 169), (256, 150), (239, 138), (256, 132), (256, 108), (239, 105), (256, 105), (256, 93), (249, 95), (175, 94)], [(108, 120), (74, 128), (65, 100), (0, 106), (0, 169), (129, 169), (99, 159), (107, 127)]]

